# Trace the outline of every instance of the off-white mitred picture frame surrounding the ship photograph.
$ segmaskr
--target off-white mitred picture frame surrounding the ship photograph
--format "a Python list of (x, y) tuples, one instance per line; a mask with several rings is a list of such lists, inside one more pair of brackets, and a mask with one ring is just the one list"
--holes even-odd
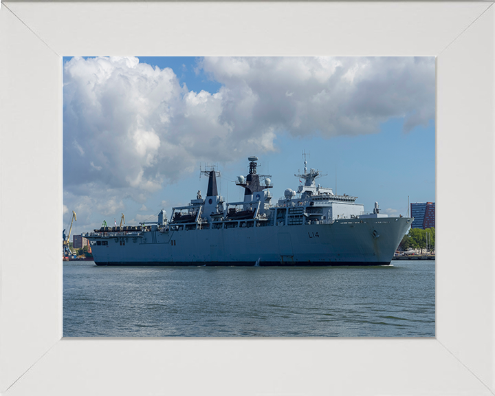
[[(492, 395), (492, 5), (1, 3), (0, 393)], [(436, 56), (435, 338), (62, 338), (63, 56), (139, 54)]]

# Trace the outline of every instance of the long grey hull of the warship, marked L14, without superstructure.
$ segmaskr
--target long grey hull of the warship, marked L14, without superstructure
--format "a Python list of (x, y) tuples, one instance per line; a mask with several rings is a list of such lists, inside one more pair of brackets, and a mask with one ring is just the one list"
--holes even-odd
[[(240, 224), (239, 224), (240, 225)], [(407, 218), (89, 236), (96, 265), (389, 265)], [(105, 245), (96, 242), (107, 241)]]

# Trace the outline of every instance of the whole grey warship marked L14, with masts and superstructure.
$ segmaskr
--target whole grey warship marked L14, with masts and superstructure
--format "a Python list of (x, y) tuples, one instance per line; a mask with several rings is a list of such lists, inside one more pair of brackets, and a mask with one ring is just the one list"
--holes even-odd
[(390, 265), (412, 219), (388, 217), (375, 202), (373, 212), (357, 197), (336, 195), (316, 184), (320, 173), (294, 175), (304, 182), (272, 203), (270, 175), (249, 174), (236, 185), (240, 202), (225, 202), (219, 173), (210, 168), (206, 197), (198, 192), (187, 206), (161, 210), (157, 221), (130, 227), (102, 227), (83, 233), (96, 265), (322, 266)]

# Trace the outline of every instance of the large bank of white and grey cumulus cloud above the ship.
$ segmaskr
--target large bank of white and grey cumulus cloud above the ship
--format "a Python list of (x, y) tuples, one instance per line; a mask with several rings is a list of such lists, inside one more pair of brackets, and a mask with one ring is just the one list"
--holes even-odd
[(405, 118), (408, 132), (434, 118), (434, 58), (212, 57), (196, 72), (220, 89), (189, 91), (172, 69), (133, 57), (65, 63), (66, 207), (146, 208), (198, 162), (274, 151), (282, 133), (376, 133), (389, 118)]

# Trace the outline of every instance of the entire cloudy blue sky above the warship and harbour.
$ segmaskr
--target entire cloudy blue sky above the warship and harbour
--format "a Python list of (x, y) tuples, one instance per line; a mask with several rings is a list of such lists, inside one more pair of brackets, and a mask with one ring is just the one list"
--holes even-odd
[[(248, 173), (272, 195), (308, 166), (322, 186), (365, 210), (406, 215), (435, 200), (434, 58), (64, 58), (64, 227), (73, 234), (154, 219), (206, 192), (199, 166), (217, 164), (221, 195)], [(147, 64), (149, 66), (146, 66)]]

